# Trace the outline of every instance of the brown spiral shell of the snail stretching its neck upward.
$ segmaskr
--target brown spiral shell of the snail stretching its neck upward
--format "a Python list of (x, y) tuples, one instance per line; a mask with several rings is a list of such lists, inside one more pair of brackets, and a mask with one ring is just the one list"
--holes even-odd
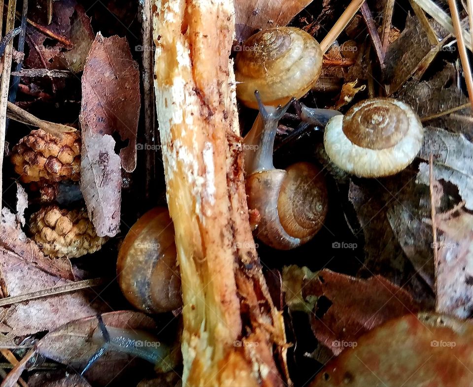
[(255, 172), (246, 181), (246, 192), (248, 207), (261, 214), (257, 237), (275, 249), (289, 250), (308, 242), (327, 215), (324, 176), (308, 162)]

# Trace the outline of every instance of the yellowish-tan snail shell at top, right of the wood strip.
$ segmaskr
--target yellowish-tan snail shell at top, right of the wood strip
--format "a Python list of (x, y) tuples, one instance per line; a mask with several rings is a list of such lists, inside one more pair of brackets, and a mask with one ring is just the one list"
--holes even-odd
[(303, 97), (322, 70), (323, 53), (317, 40), (294, 27), (276, 27), (250, 36), (235, 59), (236, 96), (258, 108), (258, 90), (266, 106)]

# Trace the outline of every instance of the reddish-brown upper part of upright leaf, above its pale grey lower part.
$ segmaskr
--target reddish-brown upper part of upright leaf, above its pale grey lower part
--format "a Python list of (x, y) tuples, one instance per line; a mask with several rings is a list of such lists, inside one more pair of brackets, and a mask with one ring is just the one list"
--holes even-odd
[(128, 145), (120, 151), (127, 172), (136, 167), (136, 130), (140, 109), (138, 64), (125, 38), (101, 33), (92, 44), (82, 75), (80, 124), (83, 141), (90, 133), (117, 132)]

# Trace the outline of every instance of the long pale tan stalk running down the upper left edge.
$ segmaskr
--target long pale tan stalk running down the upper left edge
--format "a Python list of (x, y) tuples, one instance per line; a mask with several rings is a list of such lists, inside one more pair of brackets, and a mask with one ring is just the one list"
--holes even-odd
[[(11, 31), (15, 28), (15, 8), (16, 0), (8, 1), (8, 10), (6, 13), (5, 31)], [(5, 151), (5, 128), (6, 128), (6, 106), (8, 103), (8, 90), (10, 89), (11, 60), (13, 56), (13, 42), (7, 44), (3, 55), (3, 68), (1, 71), (0, 85), (0, 207), (2, 206), (2, 181), (3, 181), (3, 154)], [(1, 214), (0, 214), (1, 219)]]

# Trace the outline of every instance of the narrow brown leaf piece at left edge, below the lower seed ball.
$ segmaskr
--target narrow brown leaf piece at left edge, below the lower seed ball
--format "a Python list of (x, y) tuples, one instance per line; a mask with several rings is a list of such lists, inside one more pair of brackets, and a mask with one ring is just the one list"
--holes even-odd
[(3, 251), (2, 259), (5, 258), (5, 254), (15, 256), (46, 273), (74, 280), (69, 259), (46, 257), (34, 241), (25, 235), (15, 215), (7, 208), (2, 210), (0, 247)]

